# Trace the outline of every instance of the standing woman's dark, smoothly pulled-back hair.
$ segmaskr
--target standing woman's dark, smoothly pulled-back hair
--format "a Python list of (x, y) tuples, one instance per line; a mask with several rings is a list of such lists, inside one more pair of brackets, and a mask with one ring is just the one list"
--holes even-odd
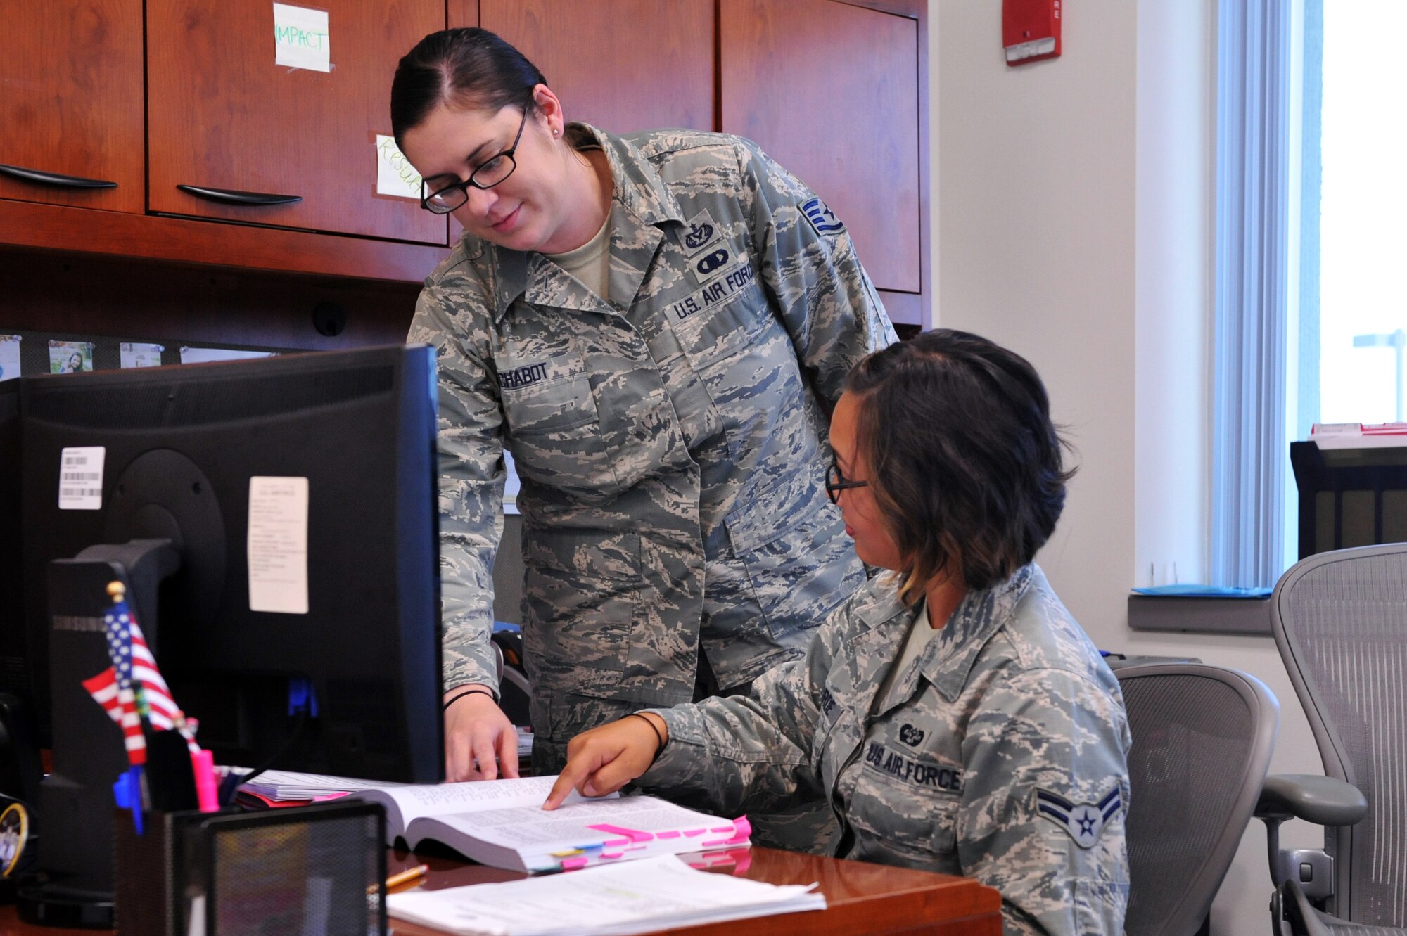
[(440, 104), (497, 111), (521, 104), (536, 111), (532, 90), (546, 84), (537, 66), (488, 30), (440, 30), (415, 44), (391, 80), (391, 135), (405, 134)]

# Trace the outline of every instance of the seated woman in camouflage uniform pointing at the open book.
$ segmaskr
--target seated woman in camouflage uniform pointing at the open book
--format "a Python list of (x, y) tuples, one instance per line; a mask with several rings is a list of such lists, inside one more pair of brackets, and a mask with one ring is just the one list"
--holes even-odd
[(750, 694), (578, 735), (547, 808), (630, 780), (732, 814), (823, 797), (836, 854), (976, 877), (1007, 933), (1121, 933), (1128, 725), (1031, 561), (1069, 476), (1040, 378), (931, 332), (855, 367), (830, 441), (846, 531), (893, 573)]

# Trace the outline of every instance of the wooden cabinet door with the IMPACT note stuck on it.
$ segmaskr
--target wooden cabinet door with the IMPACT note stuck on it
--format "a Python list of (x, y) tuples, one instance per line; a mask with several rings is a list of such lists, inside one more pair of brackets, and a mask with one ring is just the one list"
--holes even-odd
[[(445, 218), (376, 191), (395, 63), (443, 28), (443, 0), (308, 6), (328, 14), (331, 72), (274, 63), (269, 0), (146, 0), (151, 209), (446, 243)], [(301, 201), (227, 205), (182, 184)]]

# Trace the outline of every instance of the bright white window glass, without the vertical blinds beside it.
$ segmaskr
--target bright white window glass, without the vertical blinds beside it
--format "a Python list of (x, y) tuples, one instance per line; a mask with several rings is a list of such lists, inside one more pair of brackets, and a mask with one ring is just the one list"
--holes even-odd
[[(1407, 97), (1407, 74), (1394, 56), (1370, 52), (1372, 37), (1403, 30), (1401, 0), (1306, 4), (1304, 164), (1318, 162), (1323, 184), (1317, 204), (1306, 184), (1303, 207), (1301, 423), (1403, 419), (1407, 135), (1394, 112)], [(1313, 67), (1316, 44), (1321, 69)], [(1320, 135), (1310, 132), (1316, 97)]]

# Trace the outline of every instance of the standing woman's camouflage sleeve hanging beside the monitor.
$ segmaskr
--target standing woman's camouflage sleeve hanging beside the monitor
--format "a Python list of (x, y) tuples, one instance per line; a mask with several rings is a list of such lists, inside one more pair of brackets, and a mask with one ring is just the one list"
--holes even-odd
[[(494, 554), (502, 535), (504, 454), (498, 381), (460, 322), (464, 297), (428, 282), (408, 342), (433, 344), (439, 364), (440, 620), (445, 687), (498, 691), (490, 634)], [(483, 346), (483, 343), (481, 343)]]

